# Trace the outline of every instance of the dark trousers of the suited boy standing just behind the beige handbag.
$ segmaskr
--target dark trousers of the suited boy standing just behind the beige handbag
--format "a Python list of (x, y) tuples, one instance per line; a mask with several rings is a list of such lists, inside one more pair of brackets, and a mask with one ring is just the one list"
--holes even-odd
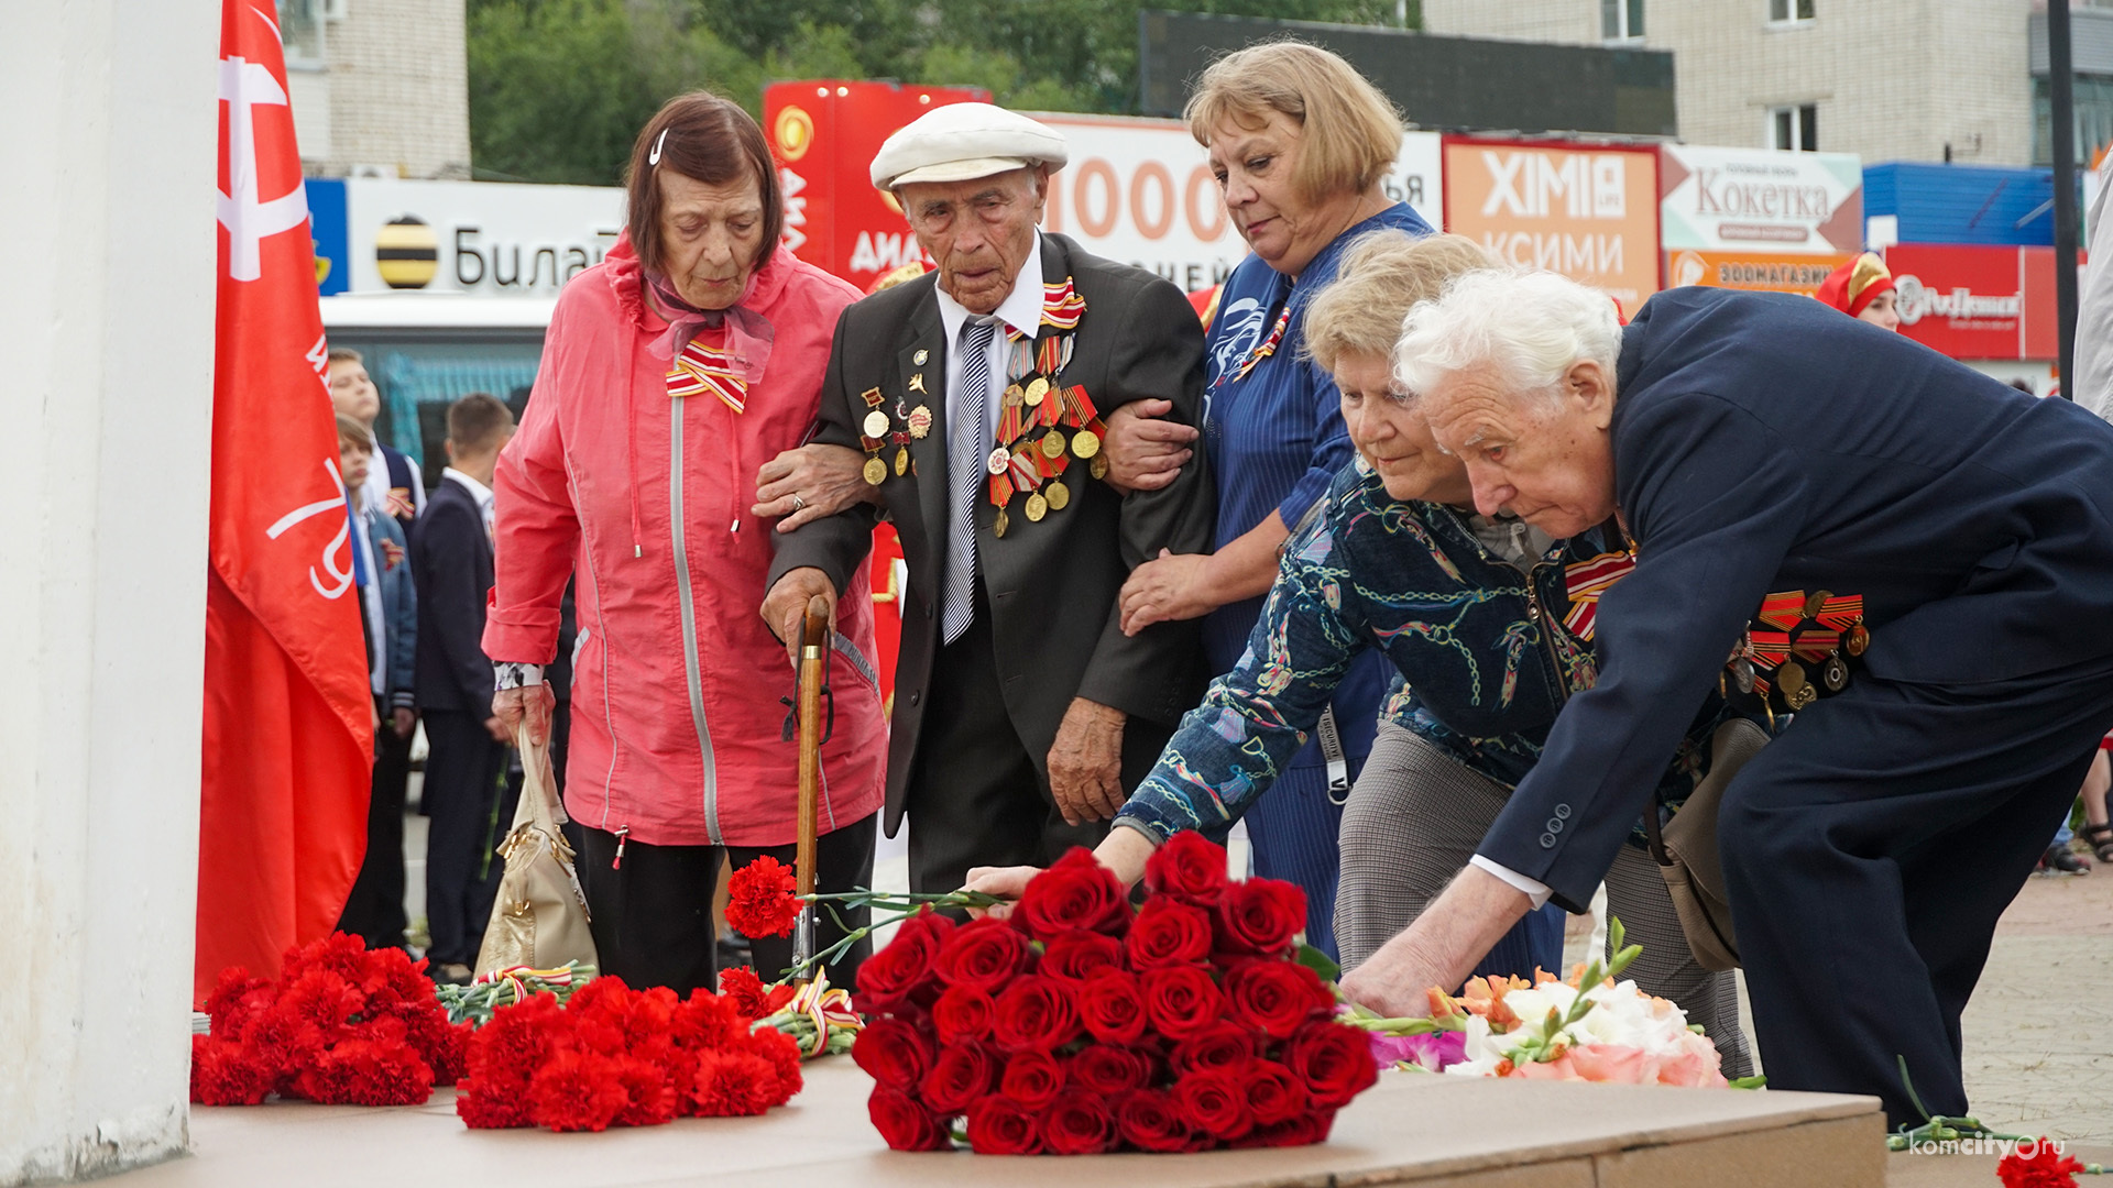
[(507, 865), (494, 848), (513, 827), (518, 788), (501, 788), (507, 748), (484, 719), (461, 710), (425, 712), (425, 922), (433, 964), (478, 962), (484, 926), (492, 920), (499, 875)]

